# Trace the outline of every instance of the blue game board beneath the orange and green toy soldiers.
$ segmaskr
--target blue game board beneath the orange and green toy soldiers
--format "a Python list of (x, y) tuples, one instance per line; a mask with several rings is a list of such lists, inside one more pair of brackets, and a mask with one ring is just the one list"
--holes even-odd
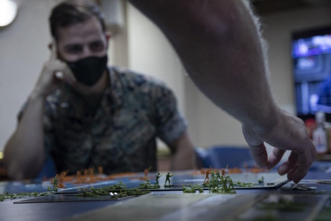
[[(171, 173), (172, 174), (172, 173)], [(166, 180), (166, 172), (161, 173), (161, 178), (159, 179), (160, 188), (149, 189), (151, 191), (165, 191), (165, 190), (182, 190), (182, 186), (189, 185), (201, 185), (205, 179), (205, 175), (201, 173), (196, 173), (196, 171), (176, 171), (173, 173), (174, 176), (170, 178), (171, 186), (164, 187)], [(151, 184), (155, 184), (157, 173), (149, 173), (148, 180)], [(239, 187), (235, 186), (236, 189), (271, 189), (278, 188), (284, 183), (288, 182), (285, 176), (279, 176), (277, 173), (264, 172), (264, 173), (237, 173), (237, 174), (227, 174), (229, 175), (233, 183), (237, 181), (256, 183), (251, 187)], [(258, 179), (263, 176), (265, 178), (264, 182), (259, 184)], [(103, 176), (105, 177), (105, 175)], [(145, 183), (142, 179), (144, 177), (143, 173), (134, 173), (127, 176), (114, 176), (112, 180), (99, 181), (96, 183), (79, 183), (74, 184), (72, 181), (64, 182), (64, 188), (59, 188), (58, 193), (77, 193), (78, 188), (101, 188), (105, 186), (111, 186), (122, 182), (125, 184), (127, 189), (137, 188), (140, 184)], [(33, 181), (22, 181), (22, 182), (0, 182), (0, 193), (21, 193), (21, 192), (45, 192), (49, 186), (52, 186), (50, 180), (42, 182), (41, 180)], [(204, 188), (208, 189), (208, 188)]]

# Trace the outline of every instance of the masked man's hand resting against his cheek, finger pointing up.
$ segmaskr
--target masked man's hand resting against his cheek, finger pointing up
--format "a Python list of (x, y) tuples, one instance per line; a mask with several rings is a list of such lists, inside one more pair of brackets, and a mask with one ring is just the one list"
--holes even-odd
[(76, 82), (76, 78), (68, 65), (57, 59), (56, 42), (53, 40), (51, 44), (51, 56), (44, 64), (34, 88), (34, 93), (46, 97), (54, 92), (62, 82), (72, 85)]

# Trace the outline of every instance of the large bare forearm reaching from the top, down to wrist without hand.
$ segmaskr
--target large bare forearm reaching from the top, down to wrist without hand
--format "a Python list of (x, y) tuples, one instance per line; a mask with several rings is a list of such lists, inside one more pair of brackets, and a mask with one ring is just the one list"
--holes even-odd
[(256, 18), (244, 1), (130, 1), (162, 29), (216, 105), (252, 128), (270, 130), (278, 108)]

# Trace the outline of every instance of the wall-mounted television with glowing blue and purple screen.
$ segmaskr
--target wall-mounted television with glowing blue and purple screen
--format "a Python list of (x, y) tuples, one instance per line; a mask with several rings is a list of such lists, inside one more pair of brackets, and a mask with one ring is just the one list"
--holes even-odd
[(331, 119), (331, 25), (292, 33), (292, 59), (297, 116)]

